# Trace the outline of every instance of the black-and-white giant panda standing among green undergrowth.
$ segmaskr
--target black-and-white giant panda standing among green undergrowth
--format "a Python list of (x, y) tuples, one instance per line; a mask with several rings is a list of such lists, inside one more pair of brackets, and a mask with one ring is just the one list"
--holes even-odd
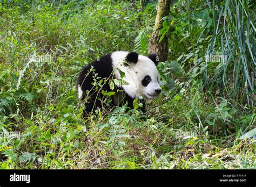
[[(133, 109), (133, 100), (139, 99), (142, 103), (139, 109), (145, 113), (145, 100), (157, 98), (162, 91), (157, 64), (156, 54), (143, 56), (124, 51), (109, 53), (88, 64), (77, 81), (78, 97), (85, 100), (85, 111), (104, 107), (103, 93), (114, 91), (111, 105), (122, 106), (127, 102), (127, 106)], [(122, 83), (111, 90), (109, 81), (114, 78), (122, 80)]]

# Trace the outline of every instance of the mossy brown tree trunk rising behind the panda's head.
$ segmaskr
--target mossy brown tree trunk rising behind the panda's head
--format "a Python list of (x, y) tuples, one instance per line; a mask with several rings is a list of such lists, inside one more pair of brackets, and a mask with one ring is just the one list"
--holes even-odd
[(168, 56), (168, 38), (164, 37), (163, 40), (159, 43), (161, 38), (160, 30), (163, 28), (163, 17), (168, 16), (170, 12), (171, 0), (159, 0), (157, 6), (157, 16), (156, 23), (154, 25), (154, 31), (151, 34), (150, 43), (149, 43), (149, 54), (156, 53), (158, 60), (163, 62), (167, 60)]

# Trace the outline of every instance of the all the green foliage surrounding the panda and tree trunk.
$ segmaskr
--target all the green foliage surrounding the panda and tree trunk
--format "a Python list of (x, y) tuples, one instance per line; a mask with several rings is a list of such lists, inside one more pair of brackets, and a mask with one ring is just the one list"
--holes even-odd
[[(212, 3), (172, 4), (164, 94), (145, 114), (125, 105), (83, 118), (80, 68), (112, 51), (147, 55), (157, 2), (2, 1), (1, 169), (254, 168), (255, 11), (251, 1)], [(206, 63), (211, 53), (227, 62)], [(98, 90), (107, 83), (94, 78)]]

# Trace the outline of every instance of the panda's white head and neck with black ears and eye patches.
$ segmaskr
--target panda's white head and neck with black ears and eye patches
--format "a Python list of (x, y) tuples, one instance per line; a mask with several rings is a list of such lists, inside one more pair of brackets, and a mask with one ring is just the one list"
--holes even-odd
[[(130, 97), (143, 96), (145, 99), (154, 99), (159, 96), (162, 90), (159, 85), (156, 54), (143, 56), (136, 52), (114, 52), (112, 60), (115, 67), (125, 73), (123, 79), (128, 84), (122, 87)], [(120, 77), (118, 71), (116, 74)]]

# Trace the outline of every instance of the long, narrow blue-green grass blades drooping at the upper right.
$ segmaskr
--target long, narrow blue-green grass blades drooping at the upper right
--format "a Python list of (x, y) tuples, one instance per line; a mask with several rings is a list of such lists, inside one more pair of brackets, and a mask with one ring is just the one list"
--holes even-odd
[[(234, 99), (245, 111), (252, 111), (255, 103), (255, 7), (252, 1), (215, 0), (209, 8), (213, 15), (213, 35), (206, 55), (224, 55), (225, 60), (215, 66), (206, 62), (204, 83), (208, 90)], [(214, 66), (212, 74), (209, 73)]]

